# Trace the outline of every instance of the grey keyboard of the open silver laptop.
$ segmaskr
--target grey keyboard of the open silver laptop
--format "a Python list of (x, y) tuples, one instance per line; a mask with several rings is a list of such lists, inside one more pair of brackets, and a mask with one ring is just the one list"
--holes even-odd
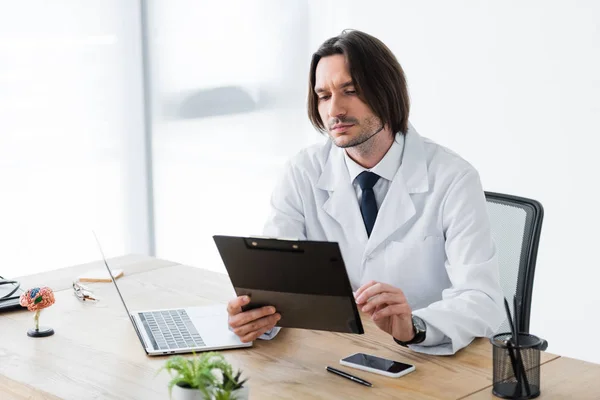
[(139, 316), (156, 350), (206, 346), (183, 309), (142, 312)]

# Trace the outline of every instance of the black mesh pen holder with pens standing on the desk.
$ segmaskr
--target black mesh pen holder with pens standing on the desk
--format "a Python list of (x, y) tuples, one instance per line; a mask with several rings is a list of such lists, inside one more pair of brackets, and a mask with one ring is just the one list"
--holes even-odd
[(516, 296), (514, 321), (506, 299), (504, 307), (511, 332), (490, 339), (494, 360), (492, 393), (505, 399), (533, 399), (540, 395), (540, 351), (546, 350), (548, 343), (537, 336), (519, 332)]

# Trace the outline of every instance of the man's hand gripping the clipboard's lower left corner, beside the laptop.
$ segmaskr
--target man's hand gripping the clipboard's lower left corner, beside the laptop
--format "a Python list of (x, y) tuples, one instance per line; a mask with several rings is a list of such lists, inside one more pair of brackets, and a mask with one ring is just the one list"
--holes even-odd
[(251, 342), (273, 329), (281, 319), (281, 315), (276, 313), (275, 307), (272, 306), (242, 312), (242, 306), (249, 302), (248, 296), (240, 296), (227, 304), (229, 326), (243, 343)]

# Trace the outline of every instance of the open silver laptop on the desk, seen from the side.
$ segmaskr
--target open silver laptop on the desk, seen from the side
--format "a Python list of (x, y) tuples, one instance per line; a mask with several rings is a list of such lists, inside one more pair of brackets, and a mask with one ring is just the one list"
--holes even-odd
[(157, 356), (252, 346), (252, 342), (242, 343), (229, 330), (227, 310), (223, 304), (130, 312), (97, 237), (96, 242), (146, 354)]

